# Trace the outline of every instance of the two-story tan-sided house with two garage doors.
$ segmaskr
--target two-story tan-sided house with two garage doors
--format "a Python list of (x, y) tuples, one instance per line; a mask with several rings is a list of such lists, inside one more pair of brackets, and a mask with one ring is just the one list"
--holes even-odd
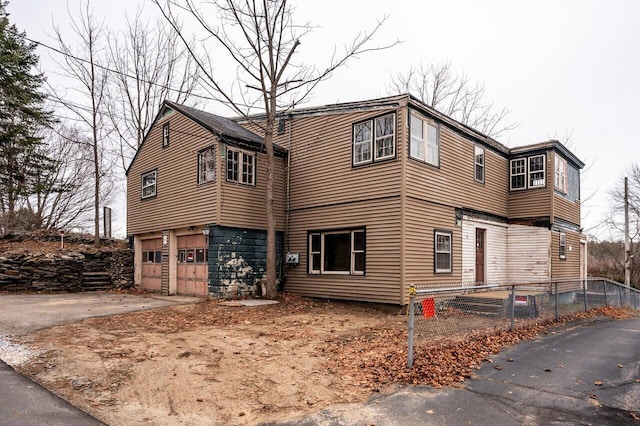
[[(192, 292), (179, 284), (181, 268), (206, 276), (196, 293), (214, 296), (262, 277), (265, 164), (250, 128), (165, 103), (128, 171), (143, 288)], [(586, 273), (584, 165), (557, 141), (509, 149), (410, 95), (289, 111), (274, 130), (276, 222), (283, 253), (293, 255), (279, 268), (287, 291), (405, 304), (411, 283)], [(202, 183), (207, 149), (211, 181)], [(234, 152), (254, 158), (238, 166), (250, 166), (249, 181), (235, 178)], [(207, 272), (192, 273), (197, 265)]]

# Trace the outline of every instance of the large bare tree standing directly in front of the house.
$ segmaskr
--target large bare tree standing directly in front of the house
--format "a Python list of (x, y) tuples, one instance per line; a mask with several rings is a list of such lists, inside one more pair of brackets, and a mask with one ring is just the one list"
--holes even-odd
[[(276, 114), (278, 110), (286, 110), (302, 102), (318, 83), (327, 79), (350, 58), (367, 51), (384, 49), (395, 43), (383, 47), (370, 46), (373, 36), (384, 22), (383, 19), (372, 31), (356, 36), (350, 45), (345, 46), (342, 54), (334, 54), (325, 68), (317, 69), (296, 61), (295, 54), (300, 47), (300, 39), (312, 27), (308, 23), (294, 22), (293, 10), (286, 0), (212, 0), (206, 3), (214, 7), (211, 18), (205, 15), (200, 9), (200, 3), (195, 0), (153, 1), (196, 61), (204, 88), (249, 120), (263, 134), (267, 154), (265, 296), (272, 299), (277, 295), (273, 212), (275, 160), (272, 143)], [(197, 46), (185, 37), (180, 21), (182, 13), (194, 20), (205, 32), (206, 56), (199, 58)], [(207, 42), (211, 43), (207, 45)], [(214, 54), (229, 57), (235, 64), (235, 83), (225, 84), (223, 76), (225, 73), (229, 75), (229, 70), (214, 70)], [(264, 114), (260, 121), (248, 115), (252, 108), (259, 108)]]

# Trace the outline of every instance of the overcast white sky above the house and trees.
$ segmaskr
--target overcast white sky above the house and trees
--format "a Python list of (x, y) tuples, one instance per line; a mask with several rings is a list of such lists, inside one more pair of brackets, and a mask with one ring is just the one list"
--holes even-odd
[[(484, 82), (487, 100), (511, 109), (519, 122), (500, 141), (508, 146), (563, 140), (586, 164), (582, 172), (583, 227), (600, 222), (607, 190), (640, 162), (640, 1), (305, 1), (298, 22), (318, 28), (302, 39), (305, 62), (326, 63), (334, 46), (352, 40), (389, 15), (376, 40), (400, 39), (391, 50), (350, 62), (321, 84), (307, 106), (387, 95), (390, 76), (412, 64), (451, 61), (456, 71)], [(48, 42), (52, 22), (64, 28), (67, 4), (78, 0), (10, 0), (10, 20), (27, 36)], [(145, 0), (92, 1), (108, 27), (121, 25)], [(39, 50), (45, 73), (49, 53)], [(51, 79), (54, 77), (51, 76)], [(218, 106), (201, 105), (221, 113)], [(124, 234), (124, 211), (114, 209), (114, 232)], [(607, 238), (608, 233), (599, 237)]]

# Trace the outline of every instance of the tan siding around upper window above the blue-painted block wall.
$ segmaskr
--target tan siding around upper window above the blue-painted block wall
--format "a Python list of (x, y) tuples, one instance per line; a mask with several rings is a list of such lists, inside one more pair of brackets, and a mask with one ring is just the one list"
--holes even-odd
[[(273, 211), (276, 229), (284, 230), (285, 159), (276, 157)], [(226, 161), (222, 162), (221, 225), (238, 228), (266, 229), (267, 156), (258, 154), (256, 186), (226, 181)]]

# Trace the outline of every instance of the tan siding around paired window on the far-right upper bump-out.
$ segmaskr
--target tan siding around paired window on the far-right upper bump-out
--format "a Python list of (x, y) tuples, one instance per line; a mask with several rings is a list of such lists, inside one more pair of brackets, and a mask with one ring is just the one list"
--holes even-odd
[[(546, 153), (545, 188), (511, 191), (508, 197), (509, 219), (551, 216), (551, 193), (553, 191), (553, 156)], [(507, 177), (509, 170), (506, 170)]]

